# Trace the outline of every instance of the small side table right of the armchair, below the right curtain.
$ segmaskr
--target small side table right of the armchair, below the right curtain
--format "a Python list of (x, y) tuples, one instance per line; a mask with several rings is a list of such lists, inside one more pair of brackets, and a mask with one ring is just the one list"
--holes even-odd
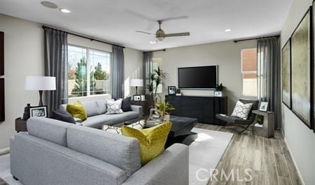
[(274, 137), (274, 112), (258, 111), (254, 110), (253, 114), (257, 114), (264, 117), (262, 128), (253, 126), (253, 134), (260, 135), (262, 137)]

